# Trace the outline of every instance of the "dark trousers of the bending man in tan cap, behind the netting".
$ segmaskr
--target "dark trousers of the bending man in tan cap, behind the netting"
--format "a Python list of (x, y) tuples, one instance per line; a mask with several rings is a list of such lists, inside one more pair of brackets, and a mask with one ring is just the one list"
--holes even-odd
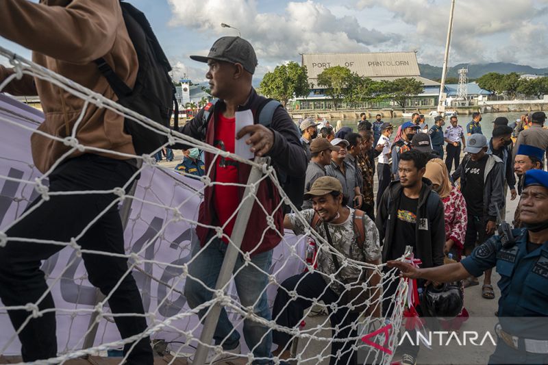
[[(348, 308), (340, 308), (336, 312), (332, 312), (329, 304), (337, 302), (344, 305), (344, 303), (340, 302), (341, 296), (339, 294), (336, 294), (336, 292), (330, 288), (326, 289), (325, 285), (325, 281), (319, 273), (301, 273), (289, 277), (282, 283), (282, 288), (285, 288), (288, 291), (295, 290), (297, 295), (301, 297), (291, 299), (286, 290), (279, 288), (276, 299), (274, 300), (272, 318), (274, 318), (276, 323), (280, 326), (288, 328), (297, 327), (303, 319), (304, 310), (310, 307), (312, 305), (312, 299), (316, 298), (327, 305), (331, 326), (333, 328), (338, 328), (338, 331), (334, 333), (334, 339), (341, 340), (358, 336), (358, 332), (351, 328), (352, 323), (358, 320), (358, 316), (350, 313)], [(278, 346), (285, 347), (291, 342), (291, 338), (292, 336), (289, 333), (273, 331), (272, 339)], [(353, 343), (351, 341), (332, 342), (332, 356), (329, 357), (329, 364), (357, 364), (358, 357), (356, 352), (351, 349), (352, 345)], [(289, 346), (287, 349), (288, 348)], [(338, 351), (340, 351), (340, 356), (337, 355)]]

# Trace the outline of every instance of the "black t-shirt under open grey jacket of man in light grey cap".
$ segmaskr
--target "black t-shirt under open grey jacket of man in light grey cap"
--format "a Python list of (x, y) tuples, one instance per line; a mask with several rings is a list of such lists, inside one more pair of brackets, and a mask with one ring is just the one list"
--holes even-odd
[(466, 201), (466, 211), (473, 216), (484, 215), (484, 173), (488, 155), (481, 160), (469, 160), (466, 163), (466, 186), (462, 195)]

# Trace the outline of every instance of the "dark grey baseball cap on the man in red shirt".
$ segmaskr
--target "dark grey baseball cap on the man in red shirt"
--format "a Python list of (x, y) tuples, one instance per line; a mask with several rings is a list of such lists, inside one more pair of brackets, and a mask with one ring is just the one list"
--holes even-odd
[(206, 63), (208, 60), (230, 62), (231, 64), (238, 63), (251, 75), (255, 73), (258, 64), (253, 46), (240, 37), (221, 37), (213, 43), (207, 56), (191, 55), (190, 59)]

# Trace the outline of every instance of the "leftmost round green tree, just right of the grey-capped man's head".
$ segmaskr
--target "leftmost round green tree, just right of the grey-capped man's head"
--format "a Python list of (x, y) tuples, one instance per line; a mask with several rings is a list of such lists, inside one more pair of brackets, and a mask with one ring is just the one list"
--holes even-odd
[(264, 75), (260, 90), (262, 95), (279, 100), (284, 107), (293, 97), (307, 97), (310, 84), (306, 66), (300, 66), (297, 62), (276, 66), (273, 72)]

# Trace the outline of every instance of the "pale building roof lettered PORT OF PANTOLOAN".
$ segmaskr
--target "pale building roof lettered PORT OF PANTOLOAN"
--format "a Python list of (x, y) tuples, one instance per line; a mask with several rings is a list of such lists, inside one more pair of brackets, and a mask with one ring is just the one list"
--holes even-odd
[(317, 79), (325, 68), (332, 66), (347, 67), (362, 77), (421, 75), (414, 52), (303, 54), (302, 64), (308, 70), (309, 79)]

